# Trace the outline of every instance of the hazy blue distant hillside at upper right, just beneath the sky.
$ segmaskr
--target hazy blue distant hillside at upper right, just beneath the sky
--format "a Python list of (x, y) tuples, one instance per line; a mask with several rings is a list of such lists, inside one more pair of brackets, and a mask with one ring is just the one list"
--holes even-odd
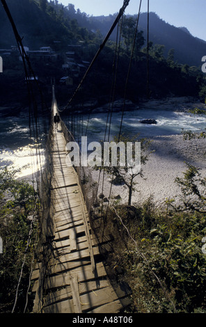
[[(102, 35), (106, 34), (115, 15), (108, 17), (89, 17), (90, 26), (95, 30), (100, 30)], [(135, 15), (132, 17), (136, 17)], [(143, 31), (145, 40), (147, 39), (147, 13), (141, 13), (139, 18), (139, 31)], [(113, 33), (113, 39), (116, 34)], [(175, 61), (188, 65), (201, 65), (201, 58), (206, 54), (206, 42), (195, 38), (187, 29), (172, 26), (156, 13), (150, 13), (150, 41), (154, 44), (165, 45), (165, 56), (170, 49), (175, 50)]]

